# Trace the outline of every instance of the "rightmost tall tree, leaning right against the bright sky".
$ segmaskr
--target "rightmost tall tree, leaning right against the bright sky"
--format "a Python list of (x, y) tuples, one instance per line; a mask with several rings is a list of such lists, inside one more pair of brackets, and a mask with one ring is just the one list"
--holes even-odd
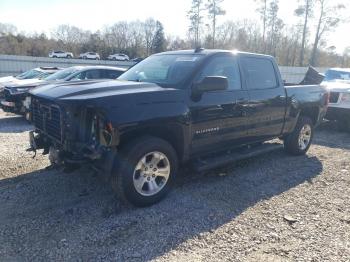
[(319, 18), (316, 28), (315, 41), (312, 48), (310, 64), (317, 65), (317, 52), (319, 44), (327, 32), (333, 31), (341, 22), (340, 11), (345, 8), (343, 4), (332, 5), (330, 0), (316, 0), (319, 7)]

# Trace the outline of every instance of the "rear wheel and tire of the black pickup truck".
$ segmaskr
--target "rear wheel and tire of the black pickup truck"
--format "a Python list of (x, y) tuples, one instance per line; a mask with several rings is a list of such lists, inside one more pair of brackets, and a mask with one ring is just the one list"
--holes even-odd
[[(301, 136), (304, 136), (304, 139)], [(284, 140), (287, 153), (295, 156), (305, 155), (314, 136), (314, 125), (309, 117), (300, 116), (293, 132)]]

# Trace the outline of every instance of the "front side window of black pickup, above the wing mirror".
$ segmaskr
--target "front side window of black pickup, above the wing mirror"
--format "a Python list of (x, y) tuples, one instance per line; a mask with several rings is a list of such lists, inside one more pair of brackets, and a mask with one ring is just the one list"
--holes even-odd
[(241, 76), (239, 73), (238, 62), (235, 57), (221, 56), (214, 57), (201, 72), (198, 81), (207, 76), (227, 77), (229, 90), (241, 89)]

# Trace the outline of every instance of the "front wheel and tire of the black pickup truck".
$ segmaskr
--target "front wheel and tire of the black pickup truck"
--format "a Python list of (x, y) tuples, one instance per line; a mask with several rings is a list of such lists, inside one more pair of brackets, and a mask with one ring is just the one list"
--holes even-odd
[(151, 206), (169, 193), (177, 169), (177, 154), (168, 142), (142, 137), (120, 151), (112, 169), (111, 183), (123, 202), (137, 207)]

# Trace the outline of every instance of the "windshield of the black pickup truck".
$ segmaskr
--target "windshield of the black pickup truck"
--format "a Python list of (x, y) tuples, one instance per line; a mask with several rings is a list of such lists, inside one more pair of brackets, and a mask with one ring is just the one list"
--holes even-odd
[(202, 57), (204, 56), (201, 54), (154, 55), (130, 68), (118, 79), (159, 85), (176, 85), (193, 72)]

